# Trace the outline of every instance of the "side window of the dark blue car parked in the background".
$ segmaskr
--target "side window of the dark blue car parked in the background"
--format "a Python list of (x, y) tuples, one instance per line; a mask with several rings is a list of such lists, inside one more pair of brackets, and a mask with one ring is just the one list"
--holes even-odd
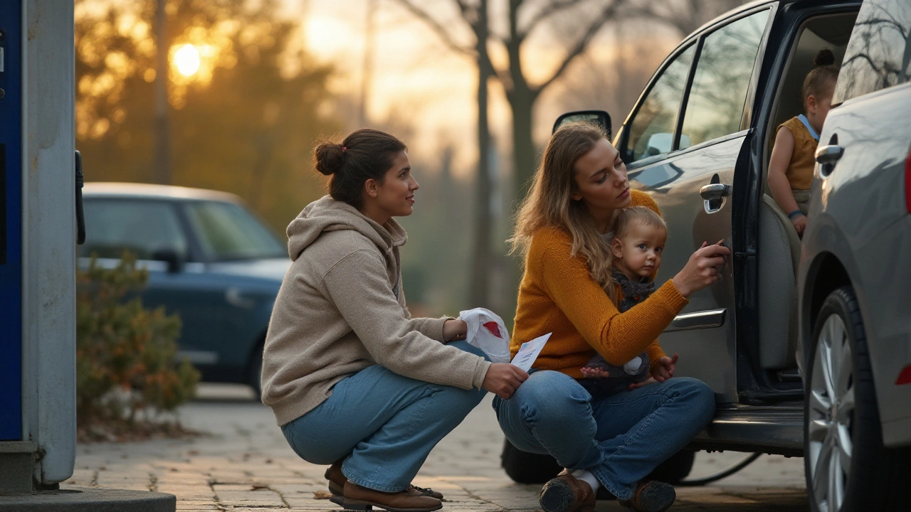
[(86, 243), (79, 246), (79, 256), (95, 252), (99, 258), (120, 258), (125, 250), (139, 260), (151, 260), (161, 250), (187, 256), (177, 210), (166, 201), (86, 199), (84, 209)]

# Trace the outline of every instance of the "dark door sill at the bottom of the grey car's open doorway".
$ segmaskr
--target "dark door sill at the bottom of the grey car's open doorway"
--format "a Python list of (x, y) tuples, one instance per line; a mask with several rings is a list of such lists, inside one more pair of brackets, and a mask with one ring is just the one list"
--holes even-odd
[(803, 456), (804, 406), (733, 404), (719, 408), (691, 448)]

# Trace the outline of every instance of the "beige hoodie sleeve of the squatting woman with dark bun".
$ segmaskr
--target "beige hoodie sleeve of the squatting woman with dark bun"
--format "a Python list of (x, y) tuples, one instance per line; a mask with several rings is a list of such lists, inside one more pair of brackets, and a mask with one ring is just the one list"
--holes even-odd
[[(413, 328), (390, 290), (378, 255), (352, 252), (326, 272), (322, 285), (377, 364), (406, 377), (463, 389), (484, 383), (490, 363), (483, 357), (437, 343)], [(428, 326), (439, 325), (442, 337), (444, 320), (427, 320)]]

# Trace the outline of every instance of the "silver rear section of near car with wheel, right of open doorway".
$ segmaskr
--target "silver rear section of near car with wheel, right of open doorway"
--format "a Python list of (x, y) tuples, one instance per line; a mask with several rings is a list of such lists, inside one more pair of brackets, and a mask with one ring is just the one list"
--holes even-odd
[(858, 488), (907, 497), (911, 484), (909, 64), (911, 3), (865, 2), (816, 150), (798, 274), (804, 461), (821, 509), (872, 510)]

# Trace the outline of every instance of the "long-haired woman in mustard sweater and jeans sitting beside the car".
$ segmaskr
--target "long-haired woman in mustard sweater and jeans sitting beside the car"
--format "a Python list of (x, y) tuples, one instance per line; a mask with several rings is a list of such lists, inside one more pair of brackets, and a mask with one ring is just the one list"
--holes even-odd
[[(587, 512), (602, 485), (628, 507), (666, 510), (673, 487), (642, 479), (714, 414), (709, 386), (669, 378), (674, 364), (657, 338), (692, 292), (718, 280), (717, 267), (730, 250), (703, 244), (673, 279), (620, 313), (608, 242), (619, 210), (628, 206), (659, 211), (648, 195), (630, 190), (626, 167), (604, 131), (573, 123), (550, 139), (517, 215), (511, 242), (525, 255), (525, 274), (511, 352), (553, 334), (527, 381), (508, 399), (496, 397), (494, 408), (517, 448), (549, 454), (566, 467), (541, 489), (547, 512)], [(618, 365), (646, 351), (651, 375), (662, 382), (592, 397), (577, 379), (596, 351)]]

